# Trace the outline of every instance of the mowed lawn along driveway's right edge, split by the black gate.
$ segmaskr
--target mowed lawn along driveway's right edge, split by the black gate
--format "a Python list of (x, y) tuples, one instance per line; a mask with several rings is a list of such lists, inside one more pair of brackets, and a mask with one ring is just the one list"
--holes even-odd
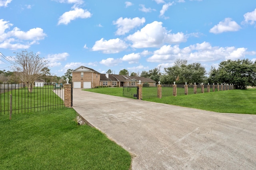
[[(93, 88), (86, 91), (122, 96), (123, 88)], [(142, 90), (143, 93), (143, 90)], [(136, 100), (136, 99), (134, 99)], [(150, 102), (191, 107), (220, 113), (256, 114), (256, 89), (226, 90), (189, 94), (180, 96), (164, 96), (162, 99), (143, 99)]]

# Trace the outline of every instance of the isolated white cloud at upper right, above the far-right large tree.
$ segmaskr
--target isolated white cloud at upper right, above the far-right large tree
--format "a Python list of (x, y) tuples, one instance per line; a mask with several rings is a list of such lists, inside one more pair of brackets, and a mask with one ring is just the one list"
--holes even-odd
[(236, 21), (232, 21), (231, 18), (225, 18), (224, 21), (220, 21), (217, 25), (214, 25), (210, 29), (210, 33), (223, 33), (227, 31), (238, 31), (241, 29), (240, 25), (236, 23)]

